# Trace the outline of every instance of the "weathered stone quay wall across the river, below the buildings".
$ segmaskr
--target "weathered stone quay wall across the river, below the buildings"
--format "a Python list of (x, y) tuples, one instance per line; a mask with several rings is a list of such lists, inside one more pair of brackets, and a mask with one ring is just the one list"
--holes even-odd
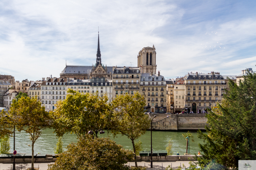
[[(150, 114), (155, 130), (205, 130), (205, 114)], [(168, 117), (167, 117), (168, 116)]]

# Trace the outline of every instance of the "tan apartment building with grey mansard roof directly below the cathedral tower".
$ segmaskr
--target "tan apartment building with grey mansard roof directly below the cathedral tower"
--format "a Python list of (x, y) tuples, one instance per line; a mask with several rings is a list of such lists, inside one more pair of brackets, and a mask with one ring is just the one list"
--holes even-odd
[(166, 113), (166, 81), (159, 71), (141, 74), (140, 94), (145, 96), (147, 112)]

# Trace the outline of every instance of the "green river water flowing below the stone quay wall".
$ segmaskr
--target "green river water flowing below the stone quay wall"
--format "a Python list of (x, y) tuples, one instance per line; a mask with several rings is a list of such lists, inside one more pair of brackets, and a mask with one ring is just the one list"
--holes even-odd
[[(182, 133), (187, 131), (152, 131), (153, 150), (165, 150), (169, 139), (173, 139), (173, 153), (176, 155), (179, 152), (181, 155), (186, 153), (186, 140), (182, 137)], [(190, 141), (190, 154), (197, 153), (199, 150), (198, 143), (203, 143), (203, 140), (197, 138), (197, 132), (191, 132), (193, 134), (195, 142)], [(98, 137), (110, 137), (116, 141), (117, 144), (122, 145), (125, 149), (132, 149), (131, 139), (126, 136), (119, 135), (117, 138), (113, 138), (111, 134), (98, 134)], [(37, 139), (34, 145), (34, 153), (53, 154), (54, 147), (57, 143), (56, 134), (52, 129), (46, 129), (42, 135)], [(142, 141), (144, 151), (150, 151), (150, 131), (141, 136), (137, 141)], [(77, 137), (75, 134), (65, 134), (63, 136), (63, 147), (66, 147), (71, 142), (76, 142)], [(13, 151), (13, 138), (10, 139), (11, 152)], [(31, 153), (31, 141), (29, 134), (25, 131), (15, 131), (15, 150), (18, 153)]]

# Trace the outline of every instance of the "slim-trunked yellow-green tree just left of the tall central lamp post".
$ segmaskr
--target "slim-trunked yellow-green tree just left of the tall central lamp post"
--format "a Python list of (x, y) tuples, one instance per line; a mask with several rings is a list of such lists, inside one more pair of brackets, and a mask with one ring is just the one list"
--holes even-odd
[[(136, 155), (135, 140), (146, 133), (150, 127), (148, 115), (144, 115), (146, 102), (144, 96), (136, 92), (134, 95), (118, 95), (112, 102), (112, 115), (110, 120), (111, 132), (125, 135), (132, 141), (134, 155)], [(137, 160), (135, 156), (135, 166)]]

